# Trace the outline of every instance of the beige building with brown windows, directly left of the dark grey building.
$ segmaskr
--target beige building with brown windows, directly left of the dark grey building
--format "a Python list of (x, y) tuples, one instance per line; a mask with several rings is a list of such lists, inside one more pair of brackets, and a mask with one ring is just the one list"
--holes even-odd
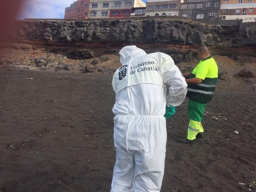
[(178, 16), (180, 0), (147, 0), (145, 16)]

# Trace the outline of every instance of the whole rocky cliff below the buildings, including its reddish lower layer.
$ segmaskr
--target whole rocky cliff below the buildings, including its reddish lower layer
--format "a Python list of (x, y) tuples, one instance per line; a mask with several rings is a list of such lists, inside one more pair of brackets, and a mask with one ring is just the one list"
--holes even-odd
[[(21, 63), (26, 64), (27, 60), (30, 60), (27, 65), (32, 65), (32, 62), (35, 67), (58, 64), (59, 60), (45, 60), (43, 57), (47, 54), (57, 54), (55, 58), (65, 57), (67, 62), (85, 61), (85, 71), (90, 71), (88, 66), (92, 59), (104, 55), (118, 57), (118, 51), (131, 44), (144, 49), (146, 53), (160, 51), (169, 54), (175, 64), (193, 60), (197, 62), (197, 46), (202, 44), (210, 46), (212, 55), (228, 56), (240, 64), (256, 63), (256, 49), (253, 48), (256, 47), (255, 26), (244, 26), (239, 29), (238, 26), (209, 26), (171, 18), (98, 21), (24, 20), (17, 21), (15, 31), (14, 44), (4, 44), (4, 47), (9, 49), (9, 52), (24, 50), (27, 59)], [(251, 48), (248, 48), (249, 46)], [(13, 63), (12, 57), (13, 55), (0, 55), (0, 59), (4, 60), (0, 64)], [(41, 62), (43, 60), (44, 62)], [(15, 62), (20, 64), (18, 60)], [(112, 65), (110, 62), (109, 66), (106, 66), (112, 70), (115, 68)], [(102, 71), (102, 68), (100, 70)]]

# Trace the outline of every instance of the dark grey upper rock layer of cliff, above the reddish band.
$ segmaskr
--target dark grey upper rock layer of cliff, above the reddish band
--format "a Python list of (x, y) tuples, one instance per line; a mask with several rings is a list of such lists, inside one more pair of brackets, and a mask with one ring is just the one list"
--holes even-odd
[(40, 41), (104, 43), (171, 43), (213, 46), (222, 41), (222, 28), (192, 21), (18, 21), (16, 38)]

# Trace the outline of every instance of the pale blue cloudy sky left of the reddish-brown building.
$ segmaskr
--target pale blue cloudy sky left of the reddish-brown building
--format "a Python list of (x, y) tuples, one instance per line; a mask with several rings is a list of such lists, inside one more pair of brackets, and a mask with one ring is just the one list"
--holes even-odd
[(28, 0), (18, 18), (64, 18), (65, 7), (69, 7), (74, 1), (76, 0)]

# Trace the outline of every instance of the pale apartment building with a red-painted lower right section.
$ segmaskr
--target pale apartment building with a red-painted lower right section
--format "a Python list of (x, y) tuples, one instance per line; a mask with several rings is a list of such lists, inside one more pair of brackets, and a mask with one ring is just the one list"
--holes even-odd
[(145, 7), (142, 0), (91, 0), (89, 4), (90, 18), (130, 17), (132, 7)]

